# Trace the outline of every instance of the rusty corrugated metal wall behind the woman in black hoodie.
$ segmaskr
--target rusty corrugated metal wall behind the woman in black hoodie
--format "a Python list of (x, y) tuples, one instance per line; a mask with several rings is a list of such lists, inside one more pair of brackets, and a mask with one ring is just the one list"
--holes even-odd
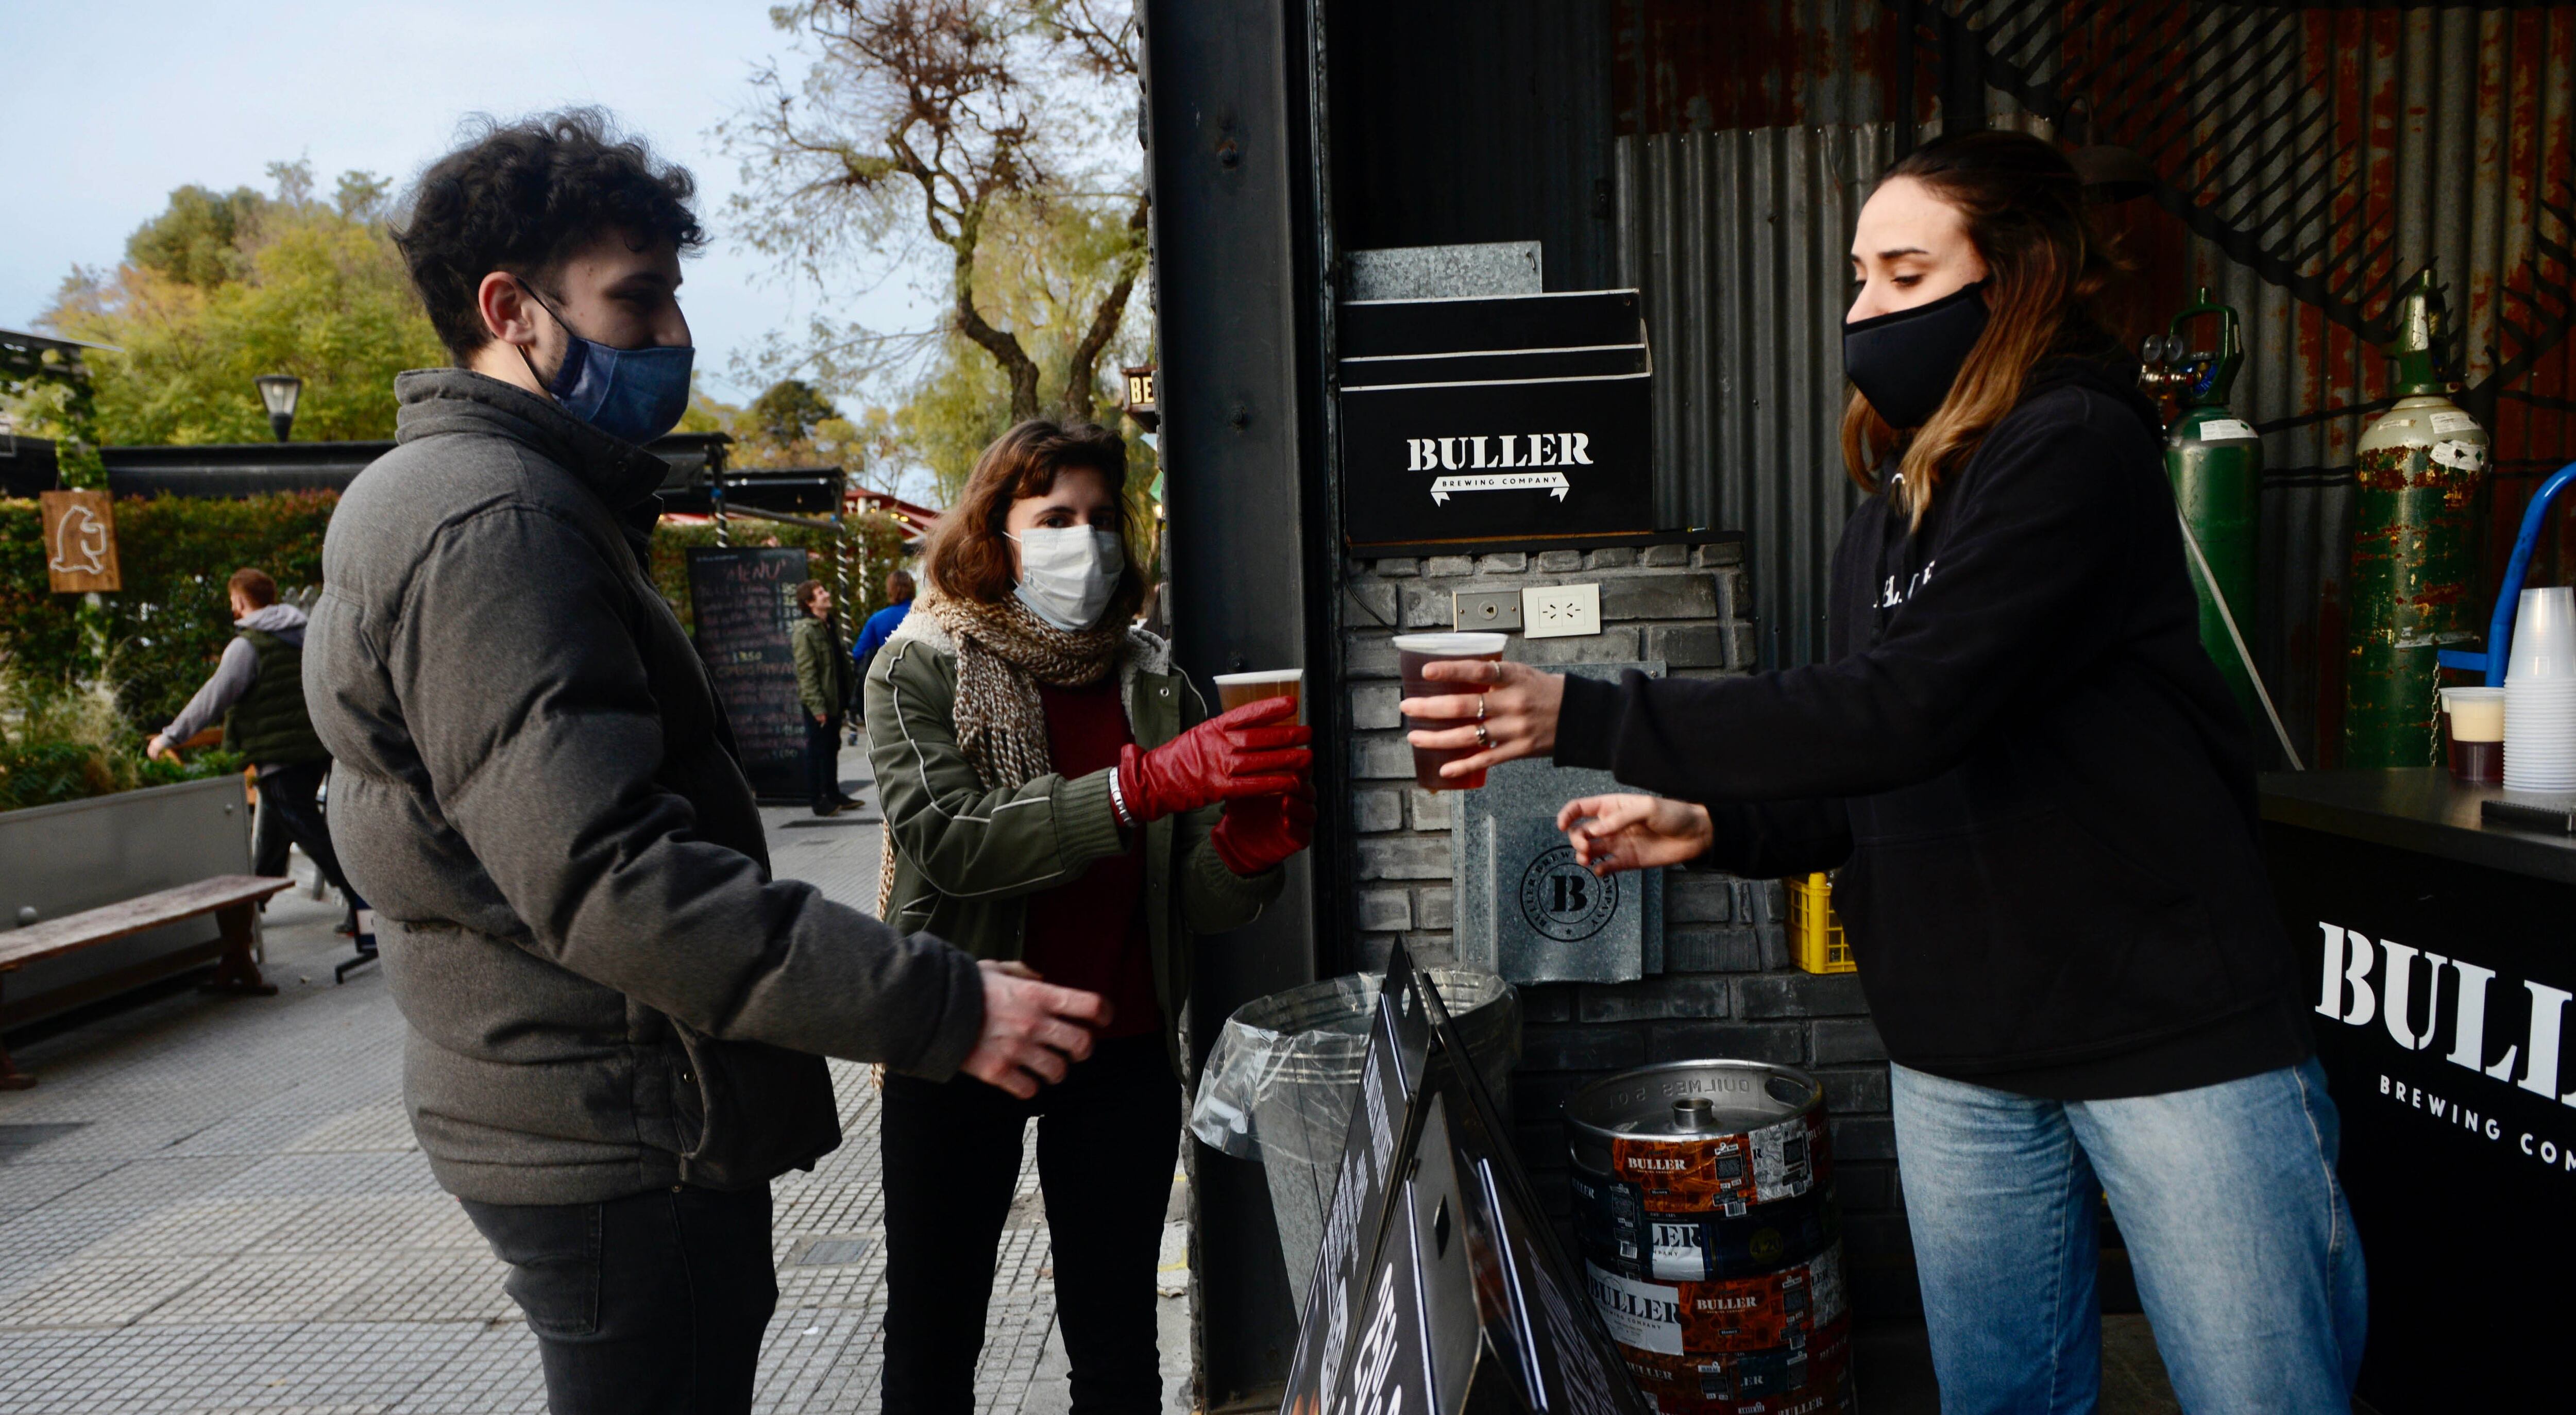
[(2463, 402), (2496, 430), (2499, 562), (2530, 485), (2576, 459), (2576, 5), (1620, 0), (1613, 26), (1615, 250), (1649, 296), (1659, 495), (1677, 523), (1749, 531), (1777, 665), (1821, 652), (1850, 505), (1850, 219), (1896, 124), (1940, 131), (1960, 64), (1989, 121), (2154, 165), (2159, 193), (2107, 211), (2143, 263), (2130, 332), (2200, 284), (2246, 320), (2236, 410), (2272, 469), (2254, 637), (2303, 753), (2339, 737), (2352, 446), (2403, 278), (2432, 260), (2452, 289)]

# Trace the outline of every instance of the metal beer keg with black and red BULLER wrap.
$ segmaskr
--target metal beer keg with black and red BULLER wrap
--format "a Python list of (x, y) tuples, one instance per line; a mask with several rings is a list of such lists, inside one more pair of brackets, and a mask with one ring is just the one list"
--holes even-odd
[(1816, 1077), (1669, 1062), (1566, 1103), (1592, 1304), (1662, 1415), (1850, 1410), (1850, 1302)]

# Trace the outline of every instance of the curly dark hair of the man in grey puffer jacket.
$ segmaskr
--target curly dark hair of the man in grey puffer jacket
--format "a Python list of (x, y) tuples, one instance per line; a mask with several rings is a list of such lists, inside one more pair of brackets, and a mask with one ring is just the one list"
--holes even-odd
[(600, 108), (564, 108), (497, 124), (477, 119), (471, 142), (420, 173), (394, 217), (394, 245), (412, 289), (456, 363), (492, 343), (477, 309), (482, 278), (510, 271), (538, 278), (605, 232), (636, 247), (706, 245), (688, 209), (698, 193), (688, 168), (654, 160), (644, 139), (623, 137)]

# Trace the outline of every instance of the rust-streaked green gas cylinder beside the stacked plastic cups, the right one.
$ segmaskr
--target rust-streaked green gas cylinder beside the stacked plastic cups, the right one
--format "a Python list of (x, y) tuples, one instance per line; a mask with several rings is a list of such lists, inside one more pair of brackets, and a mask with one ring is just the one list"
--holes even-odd
[(2398, 294), (2396, 320), (2385, 353), (2398, 402), (2362, 430), (2354, 464), (2344, 765), (2360, 768), (2439, 763), (2434, 655), (2486, 629), (2486, 428), (2450, 402), (2458, 340), (2429, 268)]

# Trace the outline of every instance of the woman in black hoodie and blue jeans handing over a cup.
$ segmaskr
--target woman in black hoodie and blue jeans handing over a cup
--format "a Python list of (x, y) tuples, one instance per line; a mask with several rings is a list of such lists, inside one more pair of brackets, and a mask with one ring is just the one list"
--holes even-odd
[(2184, 1410), (2347, 1410), (2362, 1255), (2200, 650), (2159, 423), (2066, 160), (1965, 134), (1860, 214), (1832, 655), (1716, 683), (1450, 662), (1450, 776), (1553, 753), (1607, 874), (1842, 869), (1942, 1410), (2092, 1410), (2110, 1196)]

